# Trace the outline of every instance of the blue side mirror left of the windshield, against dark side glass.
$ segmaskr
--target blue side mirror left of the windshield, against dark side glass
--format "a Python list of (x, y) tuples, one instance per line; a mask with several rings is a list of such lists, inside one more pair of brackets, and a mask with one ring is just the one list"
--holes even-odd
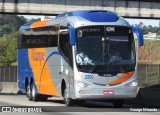
[(74, 45), (75, 45), (75, 42), (76, 42), (76, 41), (75, 41), (75, 36), (76, 36), (75, 28), (70, 27), (70, 28), (69, 28), (69, 38), (70, 38), (69, 43), (70, 43), (71, 46), (74, 46)]

